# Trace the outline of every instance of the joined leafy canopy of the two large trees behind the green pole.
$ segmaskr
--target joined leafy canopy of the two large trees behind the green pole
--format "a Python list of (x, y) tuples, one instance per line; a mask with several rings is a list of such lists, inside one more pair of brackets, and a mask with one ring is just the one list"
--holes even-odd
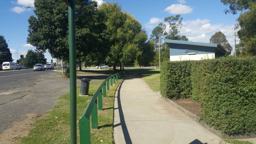
[[(35, 16), (29, 18), (27, 42), (37, 50), (46, 50), (54, 58), (68, 61), (68, 14), (63, 0), (35, 0)], [(148, 64), (153, 58), (142, 24), (117, 3), (76, 0), (76, 61), (86, 66)], [(151, 50), (152, 49), (152, 50)], [(81, 67), (80, 67), (81, 68)]]

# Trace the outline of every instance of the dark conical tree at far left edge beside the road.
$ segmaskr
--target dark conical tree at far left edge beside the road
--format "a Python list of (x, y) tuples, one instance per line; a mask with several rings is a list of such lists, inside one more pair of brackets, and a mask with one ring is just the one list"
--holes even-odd
[(8, 44), (6, 43), (3, 35), (0, 35), (0, 41), (0, 64), (3, 64), (5, 61), (12, 62), (12, 53), (10, 52)]

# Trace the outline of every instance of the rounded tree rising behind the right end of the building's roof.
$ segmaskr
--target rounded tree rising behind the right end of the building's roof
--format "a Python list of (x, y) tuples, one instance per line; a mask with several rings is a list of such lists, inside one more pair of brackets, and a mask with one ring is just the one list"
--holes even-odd
[(211, 36), (210, 43), (220, 44), (228, 53), (232, 51), (232, 47), (227, 41), (225, 34), (223, 34), (221, 31), (218, 31)]

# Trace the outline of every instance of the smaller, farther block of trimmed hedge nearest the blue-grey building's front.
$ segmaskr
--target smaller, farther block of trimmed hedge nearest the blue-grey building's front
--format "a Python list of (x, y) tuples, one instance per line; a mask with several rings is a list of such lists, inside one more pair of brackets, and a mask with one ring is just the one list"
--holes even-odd
[(191, 61), (162, 63), (160, 92), (170, 99), (185, 99), (191, 95)]

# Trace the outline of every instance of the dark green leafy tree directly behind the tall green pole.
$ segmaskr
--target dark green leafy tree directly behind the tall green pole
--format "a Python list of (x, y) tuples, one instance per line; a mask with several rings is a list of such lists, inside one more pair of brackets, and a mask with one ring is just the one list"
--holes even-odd
[[(35, 0), (35, 16), (29, 18), (27, 42), (37, 50), (48, 49), (54, 58), (69, 60), (68, 14), (63, 0)], [(106, 52), (101, 42), (101, 17), (97, 11), (97, 2), (76, 0), (76, 60), (83, 61), (91, 52)]]

